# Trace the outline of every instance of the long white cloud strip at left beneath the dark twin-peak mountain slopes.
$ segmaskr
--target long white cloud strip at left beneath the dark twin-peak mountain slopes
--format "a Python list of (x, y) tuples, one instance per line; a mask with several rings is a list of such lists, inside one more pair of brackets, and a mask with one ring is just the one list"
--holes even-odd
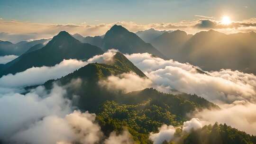
[(0, 78), (0, 87), (22, 88), (26, 86), (43, 84), (48, 80), (61, 78), (62, 76), (65, 76), (86, 64), (87, 62), (70, 59), (63, 60), (61, 63), (52, 67), (32, 67), (24, 72), (2, 76)]

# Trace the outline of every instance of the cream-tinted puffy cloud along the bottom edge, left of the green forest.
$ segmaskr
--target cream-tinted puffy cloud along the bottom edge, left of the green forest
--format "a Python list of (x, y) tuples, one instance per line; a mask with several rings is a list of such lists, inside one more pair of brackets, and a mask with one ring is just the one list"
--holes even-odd
[(95, 114), (80, 111), (74, 111), (64, 118), (47, 116), (13, 135), (11, 141), (19, 144), (95, 144), (102, 137), (100, 126), (94, 123), (95, 117)]

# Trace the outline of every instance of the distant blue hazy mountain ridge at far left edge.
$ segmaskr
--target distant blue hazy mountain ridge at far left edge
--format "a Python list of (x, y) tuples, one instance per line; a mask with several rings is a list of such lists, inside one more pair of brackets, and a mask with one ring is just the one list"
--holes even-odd
[(31, 42), (21, 41), (17, 44), (13, 44), (8, 41), (0, 41), (0, 56), (3, 55), (21, 55), (24, 54), (30, 47), (37, 44), (44, 44), (49, 39), (34, 40)]

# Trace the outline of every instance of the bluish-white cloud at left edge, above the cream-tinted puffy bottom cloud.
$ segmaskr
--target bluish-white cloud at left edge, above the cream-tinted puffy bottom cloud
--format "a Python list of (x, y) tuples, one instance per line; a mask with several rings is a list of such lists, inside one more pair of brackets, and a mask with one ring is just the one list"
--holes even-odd
[(49, 94), (43, 87), (22, 94), (6, 94), (0, 98), (0, 139), (9, 139), (46, 116), (62, 117), (71, 112), (65, 90), (54, 86)]

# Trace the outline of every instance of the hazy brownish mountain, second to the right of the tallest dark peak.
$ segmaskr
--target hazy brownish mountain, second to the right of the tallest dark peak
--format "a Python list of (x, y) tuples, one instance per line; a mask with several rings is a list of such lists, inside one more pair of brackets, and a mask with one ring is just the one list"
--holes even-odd
[(187, 35), (184, 31), (175, 30), (171, 33), (163, 33), (150, 43), (166, 57), (175, 60), (179, 58), (179, 51), (191, 37), (192, 35)]

